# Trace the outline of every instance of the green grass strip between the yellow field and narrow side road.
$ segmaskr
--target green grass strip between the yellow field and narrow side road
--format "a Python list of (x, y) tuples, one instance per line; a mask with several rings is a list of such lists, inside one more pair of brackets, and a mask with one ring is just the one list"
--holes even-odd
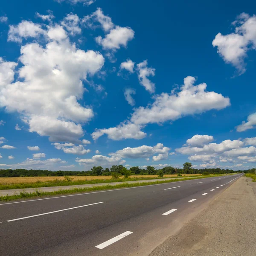
[[(195, 175), (196, 177), (198, 175)], [(190, 176), (190, 177), (195, 177)], [(174, 176), (178, 177), (178, 176)], [(169, 177), (161, 177), (163, 178), (169, 178)], [(171, 177), (172, 178), (172, 177)], [(126, 181), (135, 181), (135, 180), (154, 180), (154, 179), (160, 179), (158, 177), (130, 177), (130, 178), (122, 178), (122, 179), (94, 179), (94, 180), (72, 180), (72, 181), (66, 181), (66, 180), (58, 180), (57, 178), (55, 180), (49, 180), (49, 181), (36, 181), (31, 183), (10, 183), (10, 184), (1, 184), (0, 183), (0, 190), (4, 189), (29, 189), (29, 188), (42, 188), (42, 187), (49, 187), (49, 186), (70, 186), (70, 185), (84, 185), (84, 184), (97, 184), (97, 183), (110, 183), (110, 182), (126, 182)]]

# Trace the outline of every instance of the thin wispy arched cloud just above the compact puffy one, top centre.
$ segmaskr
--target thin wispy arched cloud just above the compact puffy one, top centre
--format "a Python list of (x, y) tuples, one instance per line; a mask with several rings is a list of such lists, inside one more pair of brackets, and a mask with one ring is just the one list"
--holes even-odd
[(84, 16), (82, 23), (92, 29), (94, 28), (94, 23), (99, 23), (105, 32), (114, 27), (111, 17), (104, 15), (101, 8), (97, 8), (91, 15)]

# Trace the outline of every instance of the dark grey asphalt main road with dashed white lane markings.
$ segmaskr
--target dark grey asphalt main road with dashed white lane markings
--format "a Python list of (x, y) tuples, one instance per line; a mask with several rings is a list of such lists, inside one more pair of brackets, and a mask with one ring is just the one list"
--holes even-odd
[(148, 255), (240, 176), (2, 203), (0, 255)]

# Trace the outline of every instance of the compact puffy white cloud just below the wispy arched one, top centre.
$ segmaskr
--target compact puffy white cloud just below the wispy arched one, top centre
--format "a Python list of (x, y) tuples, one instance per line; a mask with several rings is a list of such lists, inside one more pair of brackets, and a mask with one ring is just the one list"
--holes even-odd
[(127, 47), (128, 41), (134, 38), (134, 31), (129, 27), (116, 26), (111, 29), (109, 34), (96, 37), (97, 44), (101, 45), (105, 50), (117, 50), (120, 47)]

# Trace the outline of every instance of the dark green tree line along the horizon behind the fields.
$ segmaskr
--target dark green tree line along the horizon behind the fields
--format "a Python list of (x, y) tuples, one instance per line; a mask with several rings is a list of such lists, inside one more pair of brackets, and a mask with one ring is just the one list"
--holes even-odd
[[(102, 166), (93, 166), (88, 171), (49, 171), (49, 170), (26, 170), (26, 169), (1, 169), (0, 177), (35, 177), (35, 176), (98, 176), (98, 175), (165, 175), (165, 174), (224, 174), (233, 173), (232, 169), (221, 168), (192, 168), (192, 163), (184, 163), (183, 168), (174, 168), (172, 166), (163, 167), (163, 169), (155, 169), (154, 166), (147, 166), (141, 169), (139, 166), (125, 168), (122, 165), (113, 165), (111, 168), (103, 168)], [(255, 169), (236, 171), (236, 172), (255, 172)]]

